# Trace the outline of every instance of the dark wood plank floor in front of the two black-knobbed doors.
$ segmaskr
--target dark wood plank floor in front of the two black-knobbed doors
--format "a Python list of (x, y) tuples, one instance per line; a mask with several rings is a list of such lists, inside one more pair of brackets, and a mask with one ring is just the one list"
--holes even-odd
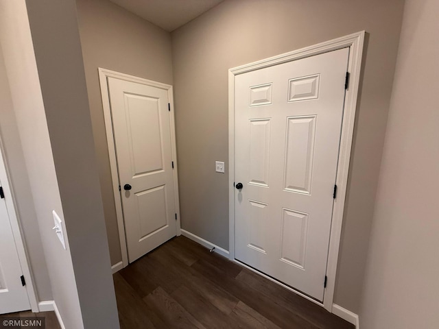
[(122, 329), (354, 328), (184, 236), (113, 278)]

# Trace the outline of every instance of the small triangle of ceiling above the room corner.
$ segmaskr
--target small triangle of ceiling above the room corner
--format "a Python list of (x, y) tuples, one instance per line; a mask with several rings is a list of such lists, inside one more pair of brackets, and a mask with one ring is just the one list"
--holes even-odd
[(224, 0), (110, 0), (167, 32), (185, 25)]

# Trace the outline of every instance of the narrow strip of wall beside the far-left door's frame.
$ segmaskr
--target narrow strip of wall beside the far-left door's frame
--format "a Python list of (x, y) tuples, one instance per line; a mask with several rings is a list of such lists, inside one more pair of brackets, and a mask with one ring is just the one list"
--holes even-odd
[[(2, 10), (0, 4), (0, 10)], [(0, 19), (0, 22), (5, 23)], [(1, 24), (1, 23), (0, 23)], [(5, 25), (0, 25), (0, 31)], [(0, 32), (1, 34), (1, 32)], [(2, 43), (3, 38), (0, 40)], [(5, 166), (13, 187), (17, 217), (21, 223), (27, 258), (34, 275), (34, 284), (40, 300), (53, 300), (49, 273), (41, 243), (40, 228), (32, 197), (26, 162), (21, 147), (19, 128), (16, 124), (14, 106), (10, 94), (8, 76), (0, 47), (0, 141), (4, 149)]]

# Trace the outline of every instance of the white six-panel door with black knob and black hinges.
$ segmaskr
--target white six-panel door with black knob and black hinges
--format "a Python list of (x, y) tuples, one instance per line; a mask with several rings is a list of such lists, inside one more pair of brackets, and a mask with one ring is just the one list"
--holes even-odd
[(235, 258), (319, 301), (347, 67), (345, 48), (235, 77)]

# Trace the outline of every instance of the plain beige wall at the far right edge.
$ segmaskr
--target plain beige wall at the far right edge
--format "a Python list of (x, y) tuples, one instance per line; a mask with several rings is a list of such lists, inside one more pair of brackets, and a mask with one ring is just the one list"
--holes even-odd
[(359, 319), (439, 324), (439, 2), (407, 0)]

